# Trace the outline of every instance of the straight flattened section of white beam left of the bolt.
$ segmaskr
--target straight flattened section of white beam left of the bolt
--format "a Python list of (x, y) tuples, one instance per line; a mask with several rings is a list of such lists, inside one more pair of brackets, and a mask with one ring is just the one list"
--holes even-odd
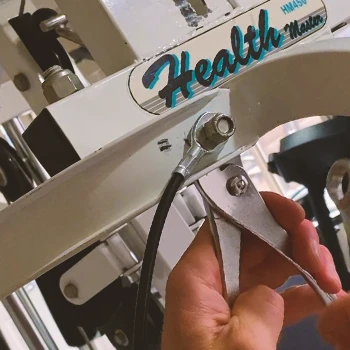
[[(184, 136), (206, 110), (230, 114), (228, 96), (228, 90), (214, 91), (200, 102), (193, 101), (190, 118), (178, 113), (154, 119), (2, 211), (0, 280), (6, 282), (0, 284), (0, 296), (108, 236), (154, 205), (183, 156)], [(103, 101), (96, 103), (103, 106)], [(170, 152), (159, 150), (157, 142), (163, 138), (170, 140)], [(217, 158), (213, 155), (203, 159), (198, 170), (208, 171), (225, 162), (237, 147), (234, 142), (228, 143)]]

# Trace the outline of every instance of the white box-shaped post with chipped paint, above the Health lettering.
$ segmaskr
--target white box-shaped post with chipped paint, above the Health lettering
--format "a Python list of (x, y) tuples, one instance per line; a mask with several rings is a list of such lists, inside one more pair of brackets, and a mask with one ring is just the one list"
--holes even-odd
[(224, 20), (225, 14), (232, 12), (227, 0), (210, 0), (210, 12), (195, 27), (181, 13), (191, 0), (56, 2), (106, 75), (188, 40), (196, 28)]

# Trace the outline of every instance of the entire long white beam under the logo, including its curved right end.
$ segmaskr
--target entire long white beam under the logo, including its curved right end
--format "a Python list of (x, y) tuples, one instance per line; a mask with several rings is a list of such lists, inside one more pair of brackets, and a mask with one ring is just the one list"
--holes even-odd
[[(230, 113), (237, 132), (217, 158), (200, 164), (190, 182), (280, 124), (314, 115), (350, 115), (349, 62), (349, 39), (278, 54), (226, 89), (155, 117), (21, 198), (0, 213), (0, 297), (156, 203), (183, 156), (184, 137), (203, 111)], [(72, 98), (84, 103), (82, 94)], [(94, 103), (98, 109), (103, 100)], [(168, 152), (157, 144), (164, 138), (171, 146)]]

